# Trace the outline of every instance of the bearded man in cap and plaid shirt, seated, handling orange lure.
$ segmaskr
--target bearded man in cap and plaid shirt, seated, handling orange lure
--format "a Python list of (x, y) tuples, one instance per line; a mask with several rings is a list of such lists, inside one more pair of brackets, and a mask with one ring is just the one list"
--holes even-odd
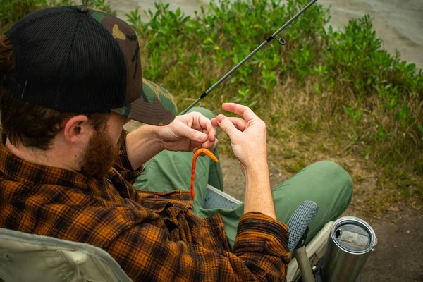
[[(175, 116), (171, 94), (142, 78), (135, 32), (102, 11), (22, 18), (0, 36), (0, 75), (0, 227), (100, 247), (133, 281), (283, 280), (298, 204), (320, 205), (312, 237), (350, 203), (350, 176), (327, 161), (272, 191), (266, 126), (246, 106)], [(127, 133), (130, 119), (146, 125)], [(207, 158), (190, 197), (192, 152), (217, 154), (215, 127), (246, 178), (233, 210), (202, 209), (207, 183), (222, 188)]]

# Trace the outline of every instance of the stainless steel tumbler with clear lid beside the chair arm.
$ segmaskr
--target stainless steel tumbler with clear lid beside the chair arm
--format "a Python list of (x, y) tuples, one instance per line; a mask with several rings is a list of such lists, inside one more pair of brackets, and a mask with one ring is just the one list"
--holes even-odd
[(369, 223), (354, 216), (341, 217), (329, 234), (321, 278), (324, 282), (356, 281), (376, 244), (376, 234)]

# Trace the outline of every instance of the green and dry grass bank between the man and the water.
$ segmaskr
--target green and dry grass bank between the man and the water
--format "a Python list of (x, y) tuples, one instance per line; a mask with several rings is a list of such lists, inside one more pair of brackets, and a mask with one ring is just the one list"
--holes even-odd
[[(147, 22), (137, 10), (127, 21), (139, 33), (143, 75), (171, 90), (182, 111), (306, 2), (219, 0), (194, 17), (156, 4)], [(0, 18), (3, 28), (27, 9), (9, 11), (16, 15)], [(342, 31), (328, 27), (329, 18), (329, 9), (314, 4), (279, 35), (285, 46), (271, 42), (200, 106), (221, 113), (223, 102), (250, 105), (266, 121), (271, 164), (288, 175), (321, 159), (338, 162), (355, 182), (353, 204), (366, 214), (398, 203), (419, 209), (422, 71), (381, 49), (370, 16)], [(221, 151), (231, 154), (225, 136)]]

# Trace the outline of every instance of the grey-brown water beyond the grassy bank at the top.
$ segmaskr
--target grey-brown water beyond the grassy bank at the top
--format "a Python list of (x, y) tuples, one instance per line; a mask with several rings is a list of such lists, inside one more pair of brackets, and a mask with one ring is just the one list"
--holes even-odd
[[(156, 0), (159, 1), (159, 0)], [(154, 10), (154, 0), (110, 0), (118, 16), (138, 8)], [(186, 15), (206, 6), (208, 0), (168, 0), (172, 9), (180, 7)], [(384, 40), (383, 48), (391, 54), (398, 49), (401, 59), (423, 68), (423, 0), (319, 0), (331, 6), (330, 24), (342, 28), (348, 20), (370, 14), (376, 35)], [(144, 14), (142, 13), (142, 16)], [(143, 20), (147, 20), (143, 17)], [(269, 30), (269, 32), (274, 32)], [(261, 42), (257, 42), (259, 44)]]

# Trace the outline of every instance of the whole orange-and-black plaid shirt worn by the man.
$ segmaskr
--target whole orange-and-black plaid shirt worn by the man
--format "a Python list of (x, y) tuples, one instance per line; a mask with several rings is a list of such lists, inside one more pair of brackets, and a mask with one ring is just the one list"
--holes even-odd
[(135, 190), (130, 180), (141, 170), (130, 168), (124, 147), (102, 180), (29, 163), (4, 142), (0, 155), (2, 228), (101, 247), (133, 281), (285, 280), (283, 223), (245, 214), (231, 252), (221, 216), (195, 216), (190, 192)]

